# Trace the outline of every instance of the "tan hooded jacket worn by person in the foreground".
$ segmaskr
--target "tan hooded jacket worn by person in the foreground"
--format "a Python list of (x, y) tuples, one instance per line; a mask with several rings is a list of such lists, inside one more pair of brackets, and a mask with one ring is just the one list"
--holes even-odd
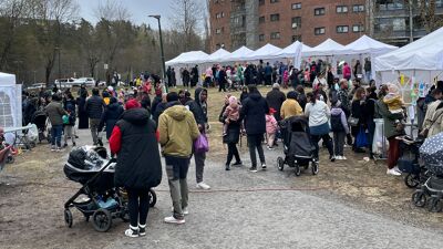
[(197, 139), (197, 123), (183, 105), (168, 107), (158, 118), (159, 144), (165, 156), (189, 158)]

